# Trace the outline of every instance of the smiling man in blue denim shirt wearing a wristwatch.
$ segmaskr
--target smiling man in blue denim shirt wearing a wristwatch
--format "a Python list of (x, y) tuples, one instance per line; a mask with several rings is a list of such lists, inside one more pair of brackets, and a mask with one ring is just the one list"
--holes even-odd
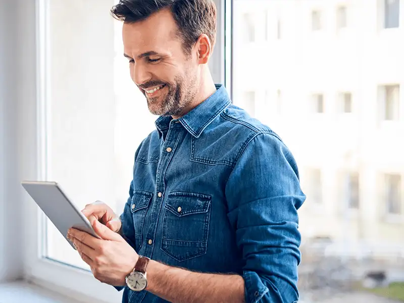
[[(231, 104), (208, 68), (213, 0), (121, 0), (124, 56), (156, 130), (135, 153), (124, 212), (70, 230), (94, 277), (123, 302), (296, 302), (296, 163), (270, 128)], [(251, 58), (247, 58), (250, 60)]]

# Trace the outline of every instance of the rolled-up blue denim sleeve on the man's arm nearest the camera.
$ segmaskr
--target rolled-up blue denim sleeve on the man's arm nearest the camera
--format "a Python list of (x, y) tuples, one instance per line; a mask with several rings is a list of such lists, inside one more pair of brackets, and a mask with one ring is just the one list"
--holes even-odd
[(257, 134), (244, 145), (227, 181), (226, 198), (243, 258), (245, 301), (297, 302), (297, 210), (306, 196), (296, 162), (272, 133)]

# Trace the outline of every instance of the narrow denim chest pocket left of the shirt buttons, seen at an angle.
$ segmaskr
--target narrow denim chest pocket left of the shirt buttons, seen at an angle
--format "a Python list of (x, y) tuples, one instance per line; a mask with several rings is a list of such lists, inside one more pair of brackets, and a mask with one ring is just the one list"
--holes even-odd
[(146, 212), (152, 197), (153, 193), (151, 192), (142, 190), (135, 190), (133, 192), (130, 210), (132, 212), (133, 226), (135, 229), (136, 251), (138, 251), (142, 246), (143, 242), (142, 232), (143, 232), (144, 218), (146, 216)]

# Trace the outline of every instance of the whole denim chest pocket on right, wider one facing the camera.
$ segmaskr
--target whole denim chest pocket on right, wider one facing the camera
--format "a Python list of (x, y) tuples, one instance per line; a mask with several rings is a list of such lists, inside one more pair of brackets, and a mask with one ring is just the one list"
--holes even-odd
[(180, 262), (206, 254), (211, 197), (171, 192), (164, 208), (161, 249)]

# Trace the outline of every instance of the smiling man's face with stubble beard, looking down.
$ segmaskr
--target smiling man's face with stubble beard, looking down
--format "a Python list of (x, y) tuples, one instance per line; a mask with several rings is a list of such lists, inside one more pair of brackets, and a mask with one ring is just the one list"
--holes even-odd
[(133, 82), (146, 96), (150, 113), (180, 116), (196, 94), (197, 61), (184, 54), (169, 10), (144, 21), (124, 23), (122, 36)]

